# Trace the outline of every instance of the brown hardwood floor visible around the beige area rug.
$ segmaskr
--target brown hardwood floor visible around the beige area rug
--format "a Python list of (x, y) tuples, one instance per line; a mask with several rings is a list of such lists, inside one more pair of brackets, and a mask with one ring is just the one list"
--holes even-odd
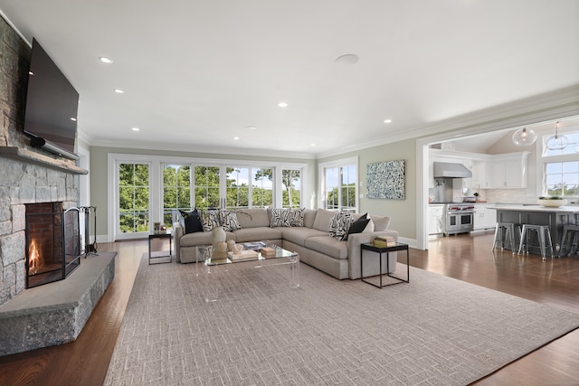
[[(411, 265), (579, 313), (579, 256), (542, 260), (490, 251), (492, 234), (437, 238), (411, 249)], [(101, 385), (147, 240), (100, 244), (119, 252), (116, 276), (71, 344), (0, 357), (0, 385)], [(90, 257), (89, 259), (96, 259)], [(412, 279), (412, 278), (411, 278)], [(482, 379), (480, 385), (579, 385), (579, 330)]]

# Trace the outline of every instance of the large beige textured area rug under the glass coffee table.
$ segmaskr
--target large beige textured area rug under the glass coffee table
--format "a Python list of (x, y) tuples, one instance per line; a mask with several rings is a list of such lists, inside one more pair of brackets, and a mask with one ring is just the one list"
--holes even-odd
[(466, 385), (579, 326), (579, 315), (411, 268), (383, 289), (300, 267), (148, 266), (107, 385)]

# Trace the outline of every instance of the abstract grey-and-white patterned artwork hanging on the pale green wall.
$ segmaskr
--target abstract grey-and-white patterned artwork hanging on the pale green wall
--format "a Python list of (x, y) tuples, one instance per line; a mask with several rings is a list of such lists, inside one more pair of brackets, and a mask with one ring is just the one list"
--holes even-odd
[(366, 165), (367, 198), (404, 200), (404, 160)]

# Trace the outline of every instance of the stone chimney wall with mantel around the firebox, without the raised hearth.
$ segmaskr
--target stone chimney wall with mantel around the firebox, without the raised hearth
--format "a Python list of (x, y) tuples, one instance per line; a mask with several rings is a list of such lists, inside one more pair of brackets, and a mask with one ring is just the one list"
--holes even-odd
[(26, 205), (78, 205), (79, 175), (71, 160), (31, 146), (24, 134), (30, 47), (0, 17), (0, 306), (26, 287)]

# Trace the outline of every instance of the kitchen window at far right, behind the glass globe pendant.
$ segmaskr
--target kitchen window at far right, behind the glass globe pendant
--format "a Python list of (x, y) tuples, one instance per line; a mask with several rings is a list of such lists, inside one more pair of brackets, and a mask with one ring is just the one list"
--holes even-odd
[(577, 197), (579, 195), (579, 131), (561, 132), (569, 140), (569, 144), (561, 150), (546, 148), (546, 138), (543, 137), (543, 171), (544, 180), (542, 193), (546, 196)]

